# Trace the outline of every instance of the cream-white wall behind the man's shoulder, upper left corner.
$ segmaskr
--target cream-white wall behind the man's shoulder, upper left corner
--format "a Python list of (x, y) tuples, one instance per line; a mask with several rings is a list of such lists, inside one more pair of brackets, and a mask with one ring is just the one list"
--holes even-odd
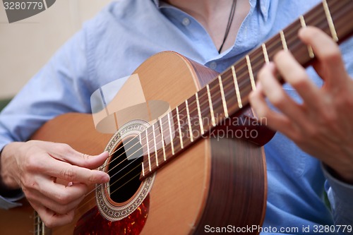
[(52, 54), (112, 0), (56, 0), (35, 16), (8, 23), (0, 3), (0, 99), (12, 97)]

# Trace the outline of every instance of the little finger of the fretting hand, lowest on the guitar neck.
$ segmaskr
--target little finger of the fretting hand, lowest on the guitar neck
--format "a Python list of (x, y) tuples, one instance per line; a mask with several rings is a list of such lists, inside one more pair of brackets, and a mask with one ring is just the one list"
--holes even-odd
[(274, 112), (268, 107), (261, 83), (258, 83), (256, 90), (251, 92), (249, 99), (258, 119), (265, 118), (269, 128), (280, 131), (287, 136), (294, 136), (297, 131), (292, 126), (291, 121), (285, 115)]

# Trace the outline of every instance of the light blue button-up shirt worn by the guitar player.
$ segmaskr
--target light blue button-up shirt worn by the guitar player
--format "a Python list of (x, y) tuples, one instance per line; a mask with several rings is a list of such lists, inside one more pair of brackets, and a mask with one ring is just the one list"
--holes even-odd
[[(317, 2), (250, 0), (249, 14), (239, 28), (234, 46), (222, 54), (218, 54), (200, 23), (173, 6), (146, 0), (114, 2), (85, 23), (4, 109), (0, 116), (0, 149), (13, 140), (27, 140), (54, 116), (90, 113), (92, 92), (130, 75), (157, 52), (179, 52), (221, 72)], [(341, 46), (351, 76), (353, 53), (348, 49), (352, 46), (352, 40)], [(314, 83), (322, 85), (312, 68), (308, 73)], [(285, 89), (298, 98), (289, 86), (285, 85)], [(289, 234), (303, 234), (303, 227), (309, 226), (313, 232), (318, 224), (353, 224), (353, 186), (330, 174), (324, 176), (317, 159), (280, 133), (265, 145), (265, 153), (268, 203), (264, 231), (275, 227), (280, 234), (281, 227), (293, 227), (299, 231)], [(323, 202), (325, 190), (332, 213)], [(0, 204), (8, 207), (10, 204), (5, 201)]]

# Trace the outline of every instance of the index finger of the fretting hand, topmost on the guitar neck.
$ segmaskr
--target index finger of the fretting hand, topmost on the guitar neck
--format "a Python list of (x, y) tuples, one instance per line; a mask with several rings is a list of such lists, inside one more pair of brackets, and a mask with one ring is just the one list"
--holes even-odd
[(318, 73), (325, 78), (325, 82), (330, 88), (340, 90), (349, 78), (345, 73), (345, 65), (337, 44), (325, 32), (310, 26), (299, 30), (299, 38), (313, 47), (314, 54), (322, 64), (316, 68), (319, 68)]

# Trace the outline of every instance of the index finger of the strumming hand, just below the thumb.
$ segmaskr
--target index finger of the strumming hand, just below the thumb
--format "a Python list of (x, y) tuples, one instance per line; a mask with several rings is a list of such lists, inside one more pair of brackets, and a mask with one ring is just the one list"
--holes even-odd
[(64, 179), (66, 181), (78, 181), (80, 183), (107, 183), (109, 175), (104, 171), (91, 170), (84, 167), (61, 162), (52, 157), (48, 158), (47, 164), (42, 169), (44, 174)]

